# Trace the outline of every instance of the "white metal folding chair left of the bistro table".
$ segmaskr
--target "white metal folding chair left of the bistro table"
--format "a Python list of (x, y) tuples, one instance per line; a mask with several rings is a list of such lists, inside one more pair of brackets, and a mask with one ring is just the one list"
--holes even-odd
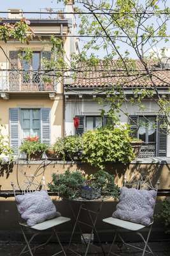
[[(25, 185), (24, 185), (24, 189), (21, 189), (22, 194), (24, 193), (31, 193), (33, 191), (37, 191), (37, 190), (41, 190), (41, 188), (45, 189), (45, 177), (43, 177), (41, 179), (42, 182), (39, 182), (39, 180), (36, 179), (36, 177), (34, 175), (30, 175), (30, 176), (25, 176), (26, 180), (24, 181)], [(16, 196), (16, 189), (15, 186), (13, 184), (13, 182), (11, 182), (11, 186), (13, 188), (13, 192), (14, 195)], [(18, 208), (18, 205), (17, 205)], [(53, 218), (52, 220), (46, 220), (43, 221), (42, 223), (38, 223), (32, 227), (29, 227), (24, 220), (22, 220), (19, 212), (18, 212), (18, 216), (19, 216), (19, 224), (20, 224), (20, 228), (22, 230), (22, 234), (24, 236), (25, 239), (25, 246), (22, 249), (22, 251), (20, 252), (20, 255), (29, 252), (31, 256), (34, 256), (33, 252), (36, 252), (36, 249), (38, 249), (41, 246), (45, 246), (46, 244), (48, 244), (50, 242), (50, 240), (52, 239), (53, 236), (56, 237), (57, 242), (60, 245), (61, 250), (57, 253), (54, 253), (51, 256), (55, 256), (58, 255), (59, 253), (63, 253), (64, 256), (66, 256), (66, 252), (64, 251), (64, 248), (60, 242), (60, 238), (57, 234), (57, 230), (56, 227), (66, 223), (67, 221), (70, 221), (70, 218), (66, 218), (63, 216), (59, 216), (57, 218)], [(26, 230), (31, 230), (32, 232), (32, 236), (30, 238), (27, 237), (27, 232), (25, 232)], [(50, 236), (48, 237), (48, 239), (45, 241), (45, 243), (41, 243), (38, 246), (32, 246), (31, 242), (34, 239), (34, 237), (38, 236), (39, 234), (41, 234), (41, 232), (46, 231), (46, 230), (50, 230)], [(30, 232), (29, 232), (30, 233)]]

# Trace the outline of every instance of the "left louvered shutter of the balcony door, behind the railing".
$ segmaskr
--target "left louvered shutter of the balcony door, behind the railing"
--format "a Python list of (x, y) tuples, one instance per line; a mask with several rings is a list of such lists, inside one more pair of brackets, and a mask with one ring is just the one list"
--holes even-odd
[[(18, 69), (18, 51), (10, 51), (10, 68)], [(10, 91), (19, 91), (19, 73), (15, 70), (9, 72)]]

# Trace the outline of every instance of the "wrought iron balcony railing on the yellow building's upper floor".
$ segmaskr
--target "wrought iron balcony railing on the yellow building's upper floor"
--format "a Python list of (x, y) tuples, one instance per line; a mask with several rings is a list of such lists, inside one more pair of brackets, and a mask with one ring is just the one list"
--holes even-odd
[(53, 71), (0, 70), (0, 92), (56, 92)]

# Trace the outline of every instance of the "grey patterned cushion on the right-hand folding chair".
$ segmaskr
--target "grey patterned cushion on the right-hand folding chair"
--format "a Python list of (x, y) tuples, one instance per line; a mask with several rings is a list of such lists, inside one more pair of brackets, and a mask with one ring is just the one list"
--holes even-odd
[(112, 217), (145, 226), (150, 225), (157, 192), (125, 187), (121, 188), (120, 192), (120, 202)]

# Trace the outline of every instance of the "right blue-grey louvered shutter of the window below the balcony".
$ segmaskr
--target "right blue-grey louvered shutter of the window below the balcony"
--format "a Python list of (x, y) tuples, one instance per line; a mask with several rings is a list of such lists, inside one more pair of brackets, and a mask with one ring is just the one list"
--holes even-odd
[(50, 145), (50, 108), (41, 108), (41, 142)]

